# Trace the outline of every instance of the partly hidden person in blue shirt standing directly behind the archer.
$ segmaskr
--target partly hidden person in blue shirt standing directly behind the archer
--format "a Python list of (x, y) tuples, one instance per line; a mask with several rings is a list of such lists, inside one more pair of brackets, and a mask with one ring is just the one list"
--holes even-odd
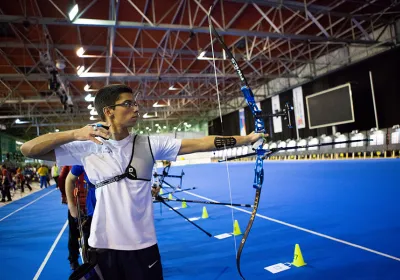
[[(86, 204), (86, 207), (85, 207), (86, 208), (86, 215), (85, 215), (86, 217), (85, 217), (83, 225), (82, 225), (84, 244), (85, 244), (86, 248), (83, 253), (87, 254), (88, 239), (89, 239), (89, 234), (90, 234), (90, 225), (92, 222), (94, 208), (96, 206), (96, 193), (95, 193), (96, 188), (89, 181), (89, 178), (87, 177), (85, 169), (83, 168), (82, 165), (72, 166), (72, 168), (65, 180), (65, 192), (67, 195), (69, 213), (72, 218), (76, 219), (76, 218), (78, 218), (78, 210), (77, 210), (76, 198), (74, 197), (74, 189), (76, 188), (76, 182), (78, 181), (79, 176), (81, 176), (82, 174), (84, 176), (84, 183), (85, 183), (85, 190), (86, 190), (86, 203), (85, 203)], [(79, 189), (79, 191), (82, 191), (82, 190)], [(82, 196), (81, 195), (78, 195), (78, 196), (79, 196), (79, 198), (78, 198), (78, 201), (79, 201)], [(82, 205), (83, 203), (80, 203), (80, 204)], [(85, 212), (85, 211), (83, 211), (83, 212)], [(73, 239), (77, 239), (77, 238), (79, 238), (79, 236), (73, 237)], [(74, 246), (72, 246), (74, 248), (69, 248), (69, 251), (70, 251), (69, 260), (71, 263), (71, 268), (73, 270), (76, 270), (76, 268), (78, 266), (79, 244), (77, 242), (70, 242), (70, 243), (71, 243), (71, 246), (72, 246), (72, 244), (74, 244)], [(69, 244), (68, 247), (71, 247), (71, 246)], [(71, 255), (72, 255), (72, 257), (71, 257)], [(87, 257), (87, 256), (85, 256), (85, 257)]]

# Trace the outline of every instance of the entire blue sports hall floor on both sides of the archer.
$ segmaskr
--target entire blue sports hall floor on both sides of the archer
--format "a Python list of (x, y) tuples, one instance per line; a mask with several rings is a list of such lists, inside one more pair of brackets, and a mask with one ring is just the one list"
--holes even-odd
[[(229, 202), (225, 163), (172, 167), (170, 174), (182, 168), (183, 188), (197, 187), (190, 193)], [(253, 203), (253, 168), (254, 162), (229, 164), (233, 202)], [(258, 210), (263, 217), (255, 219), (242, 253), (246, 279), (400, 279), (400, 160), (266, 161), (264, 169)], [(200, 199), (190, 193), (177, 196)], [(40, 196), (0, 221), (0, 279), (33, 279), (66, 222), (67, 207), (54, 188), (0, 208), (0, 220)], [(203, 204), (188, 205), (179, 211), (201, 216)], [(207, 205), (207, 210), (210, 217), (197, 224), (213, 235), (232, 231), (230, 208)], [(160, 211), (158, 203), (154, 213), (165, 279), (240, 279), (233, 237), (209, 238), (165, 206)], [(244, 232), (250, 215), (233, 214)], [(38, 279), (68, 278), (67, 239), (68, 228)], [(236, 241), (239, 246), (240, 236)], [(307, 266), (278, 274), (264, 270), (291, 262), (295, 244)]]

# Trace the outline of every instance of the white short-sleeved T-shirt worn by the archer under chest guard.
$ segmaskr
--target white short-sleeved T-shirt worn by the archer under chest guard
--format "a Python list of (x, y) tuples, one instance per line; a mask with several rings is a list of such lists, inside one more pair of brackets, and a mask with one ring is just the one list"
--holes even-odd
[[(116, 141), (74, 141), (55, 149), (58, 166), (83, 165), (93, 184), (125, 172), (134, 135)], [(145, 142), (148, 145), (148, 141)], [(176, 160), (181, 140), (150, 136), (155, 160)], [(135, 144), (135, 150), (139, 149)], [(135, 153), (136, 155), (136, 153)], [(150, 160), (151, 154), (148, 155)], [(151, 178), (150, 173), (146, 178)], [(157, 243), (151, 182), (122, 179), (96, 189), (89, 245), (94, 248), (140, 250)]]

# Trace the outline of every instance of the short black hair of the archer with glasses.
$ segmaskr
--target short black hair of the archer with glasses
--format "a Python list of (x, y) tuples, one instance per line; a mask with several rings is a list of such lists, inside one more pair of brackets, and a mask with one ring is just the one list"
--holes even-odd
[(127, 85), (108, 85), (100, 89), (94, 99), (94, 107), (99, 114), (102, 121), (106, 121), (106, 117), (103, 113), (103, 108), (111, 105), (115, 105), (121, 93), (133, 93), (132, 89)]

